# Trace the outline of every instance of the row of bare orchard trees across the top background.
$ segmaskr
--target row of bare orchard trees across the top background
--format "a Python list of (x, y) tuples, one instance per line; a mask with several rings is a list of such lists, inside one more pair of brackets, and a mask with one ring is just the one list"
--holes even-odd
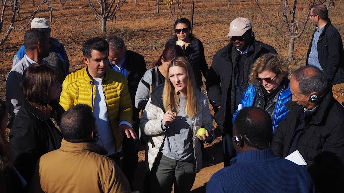
[[(53, 1), (54, 0), (40, 0), (39, 4), (36, 5), (35, 0), (32, 0), (32, 5), (35, 6), (35, 10), (32, 11), (31, 14), (20, 17), (20, 7), (25, 3), (25, 0), (1, 0), (2, 1), (2, 11), (0, 15), (0, 35), (2, 36), (2, 39), (0, 41), (0, 46), (4, 44), (4, 42), (7, 40), (8, 36), (13, 30), (23, 30), (25, 29), (32, 21), (36, 13), (38, 12), (39, 8), (45, 4), (48, 7), (49, 10), (49, 19), (52, 22), (53, 21), (53, 10), (56, 9), (53, 7)], [(169, 9), (171, 13), (171, 20), (172, 25), (173, 23), (181, 18), (181, 15), (183, 13), (183, 5), (184, 0), (156, 0), (156, 13), (159, 14), (159, 4), (165, 1), (163, 4), (167, 6), (167, 9)], [(228, 9), (230, 9), (230, 1), (228, 0)], [(261, 3), (259, 0), (252, 0), (252, 2), (257, 5), (259, 10), (262, 13), (264, 21), (270, 25), (271, 27), (274, 27), (277, 32), (282, 36), (288, 36), (289, 37), (289, 47), (288, 47), (288, 59), (289, 61), (292, 61), (294, 59), (294, 45), (295, 40), (299, 38), (306, 27), (308, 17), (310, 14), (309, 8), (312, 5), (315, 4), (325, 4), (327, 6), (327, 9), (330, 9), (330, 7), (334, 7), (334, 1), (335, 0), (310, 0), (307, 13), (303, 14), (300, 13), (298, 15), (304, 15), (302, 18), (302, 21), (298, 21), (296, 19), (296, 13), (297, 12), (303, 12), (304, 8), (297, 6), (297, 0), (278, 0), (278, 5), (280, 10), (277, 10), (279, 15), (279, 20), (275, 20), (276, 23), (271, 23), (266, 17), (265, 12), (261, 8)], [(91, 10), (95, 14), (95, 17), (97, 20), (101, 22), (101, 28), (100, 30), (105, 32), (106, 31), (106, 22), (108, 20), (115, 20), (116, 19), (116, 13), (119, 10), (118, 8), (123, 5), (126, 2), (126, 0), (88, 0), (88, 3), (91, 7)], [(251, 3), (252, 3), (251, 2)], [(66, 3), (66, 0), (60, 0), (60, 4), (62, 7)], [(138, 4), (138, 0), (134, 0), (135, 4)], [(190, 21), (193, 21), (193, 9), (194, 9), (194, 2), (192, 2), (191, 6), (191, 16)], [(5, 22), (5, 13), (12, 12), (10, 14), (10, 17), (6, 17)], [(17, 23), (23, 23), (22, 26), (16, 26)], [(4, 23), (6, 24), (6, 27), (4, 26)], [(282, 24), (284, 28), (277, 27), (278, 24)], [(5, 27), (5, 28), (4, 28)]]

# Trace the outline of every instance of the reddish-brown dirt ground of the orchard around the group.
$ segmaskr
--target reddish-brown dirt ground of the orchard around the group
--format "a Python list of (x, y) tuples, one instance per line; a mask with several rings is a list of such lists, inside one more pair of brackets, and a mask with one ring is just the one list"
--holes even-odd
[[(37, 2), (37, 1), (36, 1)], [(255, 1), (231, 1), (228, 8), (227, 0), (195, 0), (195, 13), (193, 34), (199, 38), (204, 45), (205, 57), (210, 67), (214, 53), (229, 42), (227, 33), (230, 22), (237, 17), (246, 17), (251, 20), (256, 39), (272, 45), (282, 56), (288, 53), (288, 36), (279, 34), (275, 28), (265, 23), (276, 24), (280, 31), (286, 32), (281, 24), (281, 14), (279, 13), (277, 0), (260, 1), (265, 12), (265, 19), (259, 12)], [(31, 1), (25, 2), (21, 7), (21, 17), (28, 16), (35, 8), (31, 6)], [(302, 21), (308, 11), (309, 1), (298, 1), (297, 19)], [(190, 19), (191, 1), (185, 0), (183, 4), (182, 17)], [(121, 36), (126, 42), (127, 48), (139, 52), (145, 57), (147, 69), (162, 53), (163, 47), (169, 38), (172, 37), (171, 13), (166, 5), (160, 3), (160, 13), (156, 14), (155, 0), (138, 1), (138, 5), (133, 0), (121, 5), (116, 15), (116, 21), (107, 22), (107, 32), (100, 31), (100, 21), (95, 19), (87, 1), (73, 0), (67, 1), (62, 7), (59, 1), (55, 1), (53, 7), (53, 21), (50, 22), (52, 28), (51, 36), (60, 40), (65, 46), (69, 61), (70, 71), (84, 67), (82, 62), (83, 42), (91, 37), (108, 37), (112, 34)], [(336, 3), (336, 7), (330, 9), (332, 23), (344, 37), (344, 21), (342, 15), (344, 5)], [(300, 11), (302, 10), (302, 11)], [(10, 12), (5, 13), (5, 23), (0, 37), (7, 30)], [(42, 6), (36, 17), (49, 19), (47, 6)], [(21, 28), (24, 22), (17, 22), (15, 27)], [(29, 29), (29, 28), (27, 28)], [(24, 33), (27, 29), (13, 31), (4, 45), (0, 46), (0, 98), (5, 99), (5, 80), (8, 72), (12, 68), (12, 59), (19, 47), (23, 44)], [(295, 60), (290, 62), (292, 70), (305, 64), (308, 44), (311, 39), (314, 26), (307, 24), (304, 34), (295, 42)], [(202, 89), (205, 92), (205, 89)], [(338, 101), (344, 101), (343, 89), (334, 93)], [(196, 175), (196, 181), (192, 192), (205, 192), (206, 182), (211, 175), (223, 167), (221, 139), (206, 147), (210, 159), (204, 161), (203, 169)], [(142, 188), (144, 175), (144, 152), (139, 152), (140, 163), (137, 171), (137, 185)]]

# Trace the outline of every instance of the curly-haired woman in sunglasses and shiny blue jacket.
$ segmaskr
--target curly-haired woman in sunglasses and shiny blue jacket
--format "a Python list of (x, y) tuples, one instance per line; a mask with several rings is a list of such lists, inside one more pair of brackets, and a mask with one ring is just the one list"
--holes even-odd
[(288, 75), (287, 61), (277, 54), (269, 53), (258, 58), (249, 76), (251, 85), (244, 92), (232, 122), (240, 109), (249, 106), (261, 107), (270, 114), (274, 133), (278, 123), (288, 113), (284, 105), (291, 99)]

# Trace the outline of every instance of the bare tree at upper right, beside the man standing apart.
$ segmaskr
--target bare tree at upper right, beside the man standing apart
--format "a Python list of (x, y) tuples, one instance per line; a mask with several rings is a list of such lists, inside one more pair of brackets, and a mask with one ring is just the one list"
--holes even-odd
[[(314, 0), (310, 1), (309, 7), (315, 4), (324, 4), (325, 2), (328, 2), (329, 5), (334, 5), (334, 0)], [(299, 7), (297, 9), (297, 0), (279, 0), (278, 5), (280, 7), (280, 13), (282, 15), (282, 23), (284, 24), (284, 27), (286, 29), (286, 32), (281, 32), (281, 30), (277, 27), (276, 24), (270, 23), (266, 18), (265, 18), (265, 13), (263, 12), (258, 0), (255, 2), (260, 9), (264, 21), (266, 23), (274, 28), (276, 28), (277, 32), (280, 35), (283, 36), (289, 36), (289, 47), (288, 47), (288, 60), (292, 61), (294, 59), (294, 46), (295, 46), (295, 40), (299, 38), (306, 27), (308, 17), (310, 15), (310, 10), (308, 9), (307, 14), (304, 15), (302, 18), (302, 21), (298, 21), (296, 19), (296, 12), (302, 12), (303, 8)], [(329, 6), (328, 6), (329, 9)]]

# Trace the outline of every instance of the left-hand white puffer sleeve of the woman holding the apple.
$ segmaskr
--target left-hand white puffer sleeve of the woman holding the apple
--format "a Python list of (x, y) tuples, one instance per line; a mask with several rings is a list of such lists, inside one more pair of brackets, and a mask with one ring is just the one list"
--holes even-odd
[(159, 135), (165, 132), (161, 126), (163, 111), (156, 105), (153, 105), (151, 101), (152, 99), (149, 98), (140, 119), (140, 127), (147, 136)]

